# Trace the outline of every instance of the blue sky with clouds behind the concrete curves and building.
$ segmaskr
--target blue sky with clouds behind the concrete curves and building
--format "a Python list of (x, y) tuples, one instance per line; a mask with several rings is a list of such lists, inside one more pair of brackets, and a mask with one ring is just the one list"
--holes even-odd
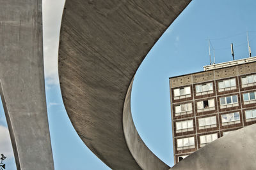
[[(54, 166), (57, 170), (109, 169), (77, 136), (61, 99), (57, 56), (63, 4), (63, 0), (43, 0), (45, 89)], [(193, 0), (138, 69), (131, 101), (134, 124), (148, 148), (169, 166), (173, 166), (169, 77), (202, 71), (209, 64), (207, 39), (215, 48), (216, 63), (232, 60), (230, 43), (234, 43), (235, 59), (242, 59), (248, 57), (248, 31), (255, 56), (255, 8), (253, 0)], [(0, 109), (1, 128), (7, 131)], [(0, 138), (0, 152), (7, 145), (10, 148), (8, 140)], [(15, 169), (10, 149), (3, 152), (8, 152), (8, 169)]]

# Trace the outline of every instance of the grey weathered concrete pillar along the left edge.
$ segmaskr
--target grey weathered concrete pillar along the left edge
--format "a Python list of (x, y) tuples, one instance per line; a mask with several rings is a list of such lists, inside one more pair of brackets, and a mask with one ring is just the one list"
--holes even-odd
[(0, 79), (17, 169), (54, 169), (45, 103), (41, 0), (0, 0)]

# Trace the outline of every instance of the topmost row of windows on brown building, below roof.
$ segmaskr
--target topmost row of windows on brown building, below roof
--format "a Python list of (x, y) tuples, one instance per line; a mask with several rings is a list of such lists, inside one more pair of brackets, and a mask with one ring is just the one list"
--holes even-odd
[[(250, 75), (250, 76), (243, 76), (241, 77), (242, 81), (242, 87), (248, 87), (248, 84), (254, 85), (256, 83), (256, 74)], [(221, 80), (218, 81), (218, 89), (219, 92), (223, 90), (232, 90), (236, 89), (236, 78), (231, 78), (228, 80)], [(212, 83), (204, 83), (201, 85), (196, 85), (196, 93), (202, 93), (202, 92), (211, 92), (213, 90)], [(184, 87), (180, 89), (174, 89), (174, 97), (177, 96), (185, 96), (191, 94), (190, 87)]]

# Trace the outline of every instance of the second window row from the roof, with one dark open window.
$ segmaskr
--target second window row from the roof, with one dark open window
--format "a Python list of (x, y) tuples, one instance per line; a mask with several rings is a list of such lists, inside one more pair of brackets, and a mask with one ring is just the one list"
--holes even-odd
[[(243, 94), (244, 104), (256, 103), (256, 92), (248, 92)], [(220, 97), (220, 108), (228, 108), (238, 106), (237, 95)], [(215, 110), (214, 99), (196, 102), (197, 111)], [(192, 103), (179, 104), (175, 106), (175, 116), (186, 115), (192, 113)]]

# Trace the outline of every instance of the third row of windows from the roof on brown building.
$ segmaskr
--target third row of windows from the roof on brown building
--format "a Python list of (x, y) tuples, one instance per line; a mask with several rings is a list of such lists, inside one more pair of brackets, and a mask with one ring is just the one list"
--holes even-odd
[[(253, 118), (255, 118), (256, 120), (256, 110), (246, 110), (245, 118), (246, 120), (249, 120), (249, 121), (250, 120), (252, 121)], [(239, 112), (227, 113), (227, 114), (221, 115), (221, 122), (222, 122), (222, 126), (230, 125), (230, 124), (239, 124), (240, 123)], [(193, 123), (194, 123), (193, 119), (175, 122), (175, 125), (176, 125), (175, 132), (179, 133), (179, 132), (194, 131)], [(217, 127), (216, 116), (198, 118), (198, 129), (207, 129), (212, 127)]]

